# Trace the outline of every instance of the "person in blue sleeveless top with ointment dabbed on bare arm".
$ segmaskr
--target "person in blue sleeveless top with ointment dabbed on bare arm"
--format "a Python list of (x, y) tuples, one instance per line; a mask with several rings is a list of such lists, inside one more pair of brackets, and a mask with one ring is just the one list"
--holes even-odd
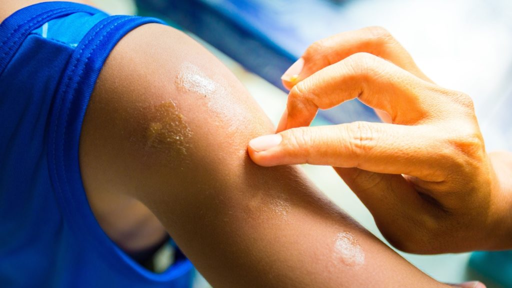
[(446, 286), (254, 164), (274, 128), (194, 40), (75, 2), (0, 7), (3, 287), (189, 287), (184, 258), (140, 264), (167, 234), (215, 287)]

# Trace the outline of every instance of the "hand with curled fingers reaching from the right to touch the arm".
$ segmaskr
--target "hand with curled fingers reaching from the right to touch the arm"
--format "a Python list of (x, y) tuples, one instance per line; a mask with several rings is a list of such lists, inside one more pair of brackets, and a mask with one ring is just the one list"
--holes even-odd
[[(293, 88), (280, 133), (251, 140), (254, 162), (333, 166), (402, 251), (512, 246), (510, 189), (502, 179), (510, 176), (495, 173), (497, 165), (509, 172), (512, 165), (485, 152), (471, 98), (434, 84), (386, 30), (321, 40), (283, 79)], [(305, 127), (318, 109), (353, 98), (388, 123)]]

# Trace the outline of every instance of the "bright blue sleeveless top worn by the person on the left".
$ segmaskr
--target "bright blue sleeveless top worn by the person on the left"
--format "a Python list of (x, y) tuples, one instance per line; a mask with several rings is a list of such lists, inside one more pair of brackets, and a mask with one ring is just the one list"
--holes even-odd
[(0, 286), (190, 287), (188, 260), (142, 268), (101, 230), (78, 163), (84, 113), (106, 57), (154, 18), (36, 4), (0, 25)]

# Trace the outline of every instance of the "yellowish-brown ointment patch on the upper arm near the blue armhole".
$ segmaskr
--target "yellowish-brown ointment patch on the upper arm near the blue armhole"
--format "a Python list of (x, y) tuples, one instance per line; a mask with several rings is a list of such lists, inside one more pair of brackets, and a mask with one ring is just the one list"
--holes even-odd
[(152, 115), (154, 121), (146, 129), (146, 148), (158, 149), (173, 158), (186, 155), (192, 131), (174, 102), (162, 102), (154, 108)]

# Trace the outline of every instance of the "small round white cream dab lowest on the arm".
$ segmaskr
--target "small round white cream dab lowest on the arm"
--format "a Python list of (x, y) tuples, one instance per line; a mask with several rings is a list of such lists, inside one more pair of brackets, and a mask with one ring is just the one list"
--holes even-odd
[(350, 232), (340, 232), (334, 244), (335, 256), (347, 266), (360, 266), (365, 263), (365, 252)]

